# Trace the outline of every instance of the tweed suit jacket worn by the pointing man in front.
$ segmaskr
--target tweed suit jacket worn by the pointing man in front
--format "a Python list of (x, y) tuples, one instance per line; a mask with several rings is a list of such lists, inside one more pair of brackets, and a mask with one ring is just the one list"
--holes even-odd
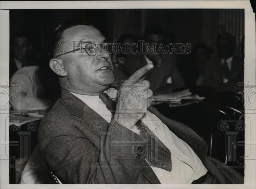
[[(163, 116), (152, 106), (149, 111), (190, 145), (219, 183), (243, 182), (235, 170), (217, 168), (221, 162), (206, 156), (205, 141), (192, 129)], [(145, 158), (138, 157), (138, 147), (145, 145), (140, 135), (114, 121), (108, 123), (64, 89), (42, 119), (38, 141), (47, 165), (63, 183), (160, 183)], [(140, 154), (145, 157), (144, 151)]]

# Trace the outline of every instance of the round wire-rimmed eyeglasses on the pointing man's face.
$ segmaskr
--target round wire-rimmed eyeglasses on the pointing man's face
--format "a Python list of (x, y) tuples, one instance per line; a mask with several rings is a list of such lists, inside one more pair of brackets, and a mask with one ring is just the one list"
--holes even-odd
[[(78, 53), (87, 53), (89, 56), (95, 56), (97, 53), (104, 53), (103, 50), (105, 50), (108, 54), (112, 54), (114, 52), (114, 44), (113, 43), (89, 43), (89, 44), (84, 44), (82, 47), (65, 52), (63, 54), (60, 54), (56, 56), (55, 58), (65, 55), (67, 53), (77, 53), (77, 51), (80, 50)], [(84, 52), (85, 51), (85, 52)]]

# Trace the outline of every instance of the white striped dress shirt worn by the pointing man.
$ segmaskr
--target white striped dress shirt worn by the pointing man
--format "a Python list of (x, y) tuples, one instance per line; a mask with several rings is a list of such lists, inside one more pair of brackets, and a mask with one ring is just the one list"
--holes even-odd
[[(110, 123), (112, 113), (99, 96), (71, 93)], [(141, 120), (171, 152), (172, 171), (151, 167), (161, 184), (190, 184), (206, 174), (207, 169), (192, 148), (170, 131), (157, 116), (147, 111)], [(162, 129), (156, 130), (155, 125), (160, 125)], [(137, 134), (140, 132), (137, 126), (134, 126), (133, 131)]]

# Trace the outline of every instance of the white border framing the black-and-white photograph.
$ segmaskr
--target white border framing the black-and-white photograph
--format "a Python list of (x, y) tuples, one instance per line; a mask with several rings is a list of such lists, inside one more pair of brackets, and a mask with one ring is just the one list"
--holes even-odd
[[(249, 1), (9, 1), (0, 2), (0, 81), (9, 81), (9, 10), (10, 9), (133, 9), (133, 8), (215, 8), (244, 9), (245, 13), (245, 70), (244, 84), (252, 82), (255, 86), (255, 14), (252, 11)], [(9, 82), (8, 82), (9, 84)], [(251, 104), (256, 107), (256, 99), (252, 99)], [(9, 98), (0, 99), (1, 104), (8, 103)], [(247, 103), (247, 102), (245, 102)], [(2, 106), (1, 106), (2, 107)], [(1, 112), (0, 116), (0, 170), (1, 188), (255, 188), (256, 181), (256, 127), (246, 127), (245, 141), (250, 139), (250, 149), (245, 150), (245, 155), (250, 155), (250, 159), (245, 159), (245, 184), (9, 184), (9, 112)], [(256, 112), (246, 111), (246, 116), (251, 123), (246, 125), (256, 125)], [(7, 124), (6, 124), (7, 123)], [(7, 155), (6, 155), (7, 154)]]

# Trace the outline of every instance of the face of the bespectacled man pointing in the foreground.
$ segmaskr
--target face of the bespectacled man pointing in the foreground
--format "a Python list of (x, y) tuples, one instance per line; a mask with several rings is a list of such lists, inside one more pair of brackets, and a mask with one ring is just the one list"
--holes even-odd
[[(105, 40), (98, 29), (86, 25), (78, 25), (65, 30), (63, 38), (63, 52), (78, 48), (73, 47), (72, 41), (75, 41), (76, 46), (80, 46), (80, 41), (84, 44), (102, 44)], [(98, 47), (100, 49), (100, 46)], [(67, 81), (76, 91), (100, 92), (114, 80), (111, 57), (103, 48), (95, 56), (89, 56), (85, 51), (80, 50), (62, 56), (60, 58), (63, 58)]]

